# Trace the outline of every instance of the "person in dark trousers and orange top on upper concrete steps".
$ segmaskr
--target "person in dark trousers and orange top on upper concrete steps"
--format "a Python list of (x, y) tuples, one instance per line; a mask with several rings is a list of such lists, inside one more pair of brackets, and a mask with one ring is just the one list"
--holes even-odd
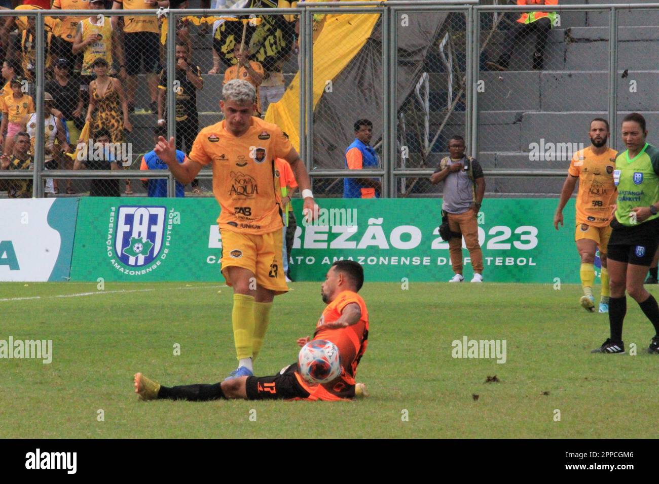
[[(558, 0), (517, 0), (517, 5), (558, 5)], [(498, 62), (488, 62), (488, 65), (498, 70), (508, 70), (510, 57), (515, 49), (515, 43), (529, 32), (536, 32), (536, 45), (533, 53), (533, 68), (542, 70), (544, 45), (549, 31), (556, 24), (556, 12), (524, 12), (511, 26), (505, 36), (505, 45)]]

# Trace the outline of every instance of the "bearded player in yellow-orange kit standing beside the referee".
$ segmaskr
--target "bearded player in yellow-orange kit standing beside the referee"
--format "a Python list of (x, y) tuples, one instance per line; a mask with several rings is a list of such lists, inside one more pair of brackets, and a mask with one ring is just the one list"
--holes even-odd
[(602, 291), (600, 313), (609, 311), (609, 275), (606, 268), (606, 254), (611, 227), (609, 217), (611, 205), (616, 203), (617, 189), (614, 184), (614, 169), (616, 169), (615, 149), (607, 146), (609, 123), (606, 119), (596, 118), (590, 122), (588, 131), (592, 146), (577, 151), (570, 163), (568, 175), (561, 190), (561, 198), (554, 214), (554, 227), (563, 225), (563, 208), (574, 192), (579, 180), (577, 194), (577, 228), (575, 240), (581, 256), (581, 286), (584, 295), (579, 301), (589, 312), (595, 310), (595, 298), (592, 295), (592, 284), (595, 281), (594, 261), (597, 248), (600, 249), (602, 261)]

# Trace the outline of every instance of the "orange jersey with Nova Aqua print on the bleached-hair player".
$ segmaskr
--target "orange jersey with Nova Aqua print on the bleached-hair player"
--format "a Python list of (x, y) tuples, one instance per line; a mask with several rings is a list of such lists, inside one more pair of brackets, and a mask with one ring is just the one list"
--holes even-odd
[(220, 229), (268, 234), (283, 227), (279, 170), (275, 158), (286, 157), (291, 143), (279, 126), (252, 117), (245, 134), (233, 136), (225, 121), (201, 130), (188, 157), (212, 163), (213, 193), (220, 206)]

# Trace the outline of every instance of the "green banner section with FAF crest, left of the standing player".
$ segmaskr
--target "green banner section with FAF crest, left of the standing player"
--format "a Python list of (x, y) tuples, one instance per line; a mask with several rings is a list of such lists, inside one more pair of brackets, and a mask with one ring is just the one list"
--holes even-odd
[(72, 281), (223, 281), (214, 198), (82, 198)]

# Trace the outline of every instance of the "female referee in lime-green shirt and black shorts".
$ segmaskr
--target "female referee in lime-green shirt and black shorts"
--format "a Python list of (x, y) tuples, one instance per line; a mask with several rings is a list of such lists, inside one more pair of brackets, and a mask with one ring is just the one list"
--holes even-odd
[(627, 312), (626, 288), (654, 326), (656, 334), (648, 352), (659, 353), (659, 306), (643, 288), (643, 279), (659, 245), (659, 149), (645, 142), (645, 118), (638, 113), (625, 116), (621, 131), (627, 149), (616, 158), (614, 182), (618, 196), (607, 255), (611, 337), (592, 352), (625, 352), (622, 325)]

